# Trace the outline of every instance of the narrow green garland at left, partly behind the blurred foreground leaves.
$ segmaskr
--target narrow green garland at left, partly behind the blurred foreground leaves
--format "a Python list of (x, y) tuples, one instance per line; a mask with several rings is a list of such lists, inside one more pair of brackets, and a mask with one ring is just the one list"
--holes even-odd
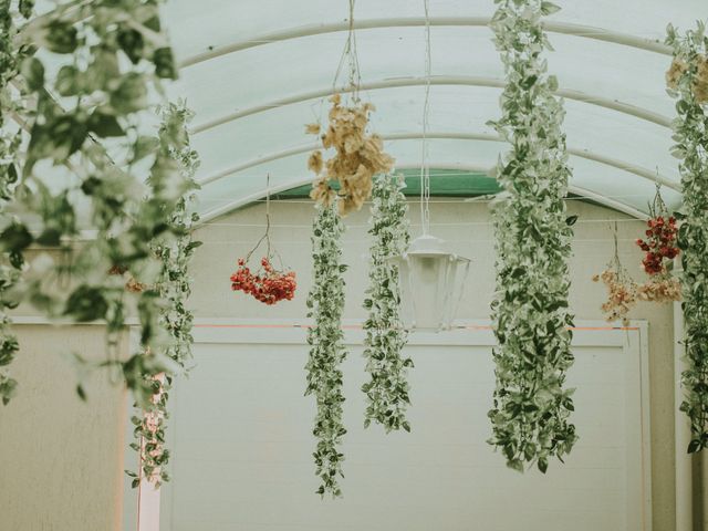
[[(176, 238), (162, 238), (152, 244), (153, 252), (163, 262), (163, 270), (155, 284), (155, 290), (167, 302), (167, 308), (160, 315), (160, 325), (166, 329), (171, 342), (165, 348), (169, 356), (181, 371), (187, 372), (187, 363), (191, 358), (194, 339), (191, 329), (194, 315), (187, 308), (187, 299), (191, 294), (191, 278), (189, 263), (194, 250), (201, 244), (192, 240), (192, 226), (199, 216), (190, 212), (189, 205), (194, 200), (192, 190), (197, 188), (194, 175), (199, 166), (199, 155), (189, 146), (187, 124), (194, 113), (184, 102), (169, 103), (162, 108), (163, 124), (159, 128), (160, 154), (171, 158), (178, 164), (179, 170), (186, 180), (191, 183), (190, 189), (177, 201), (177, 207), (171, 212), (171, 232), (180, 235)], [(179, 139), (173, 143), (171, 139)], [(140, 472), (126, 471), (133, 478), (133, 487), (137, 487), (140, 478), (146, 478), (156, 487), (169, 481), (166, 465), (169, 461), (169, 450), (165, 448), (165, 429), (167, 419), (167, 402), (173, 384), (173, 375), (146, 374), (146, 385), (153, 385), (153, 399), (150, 407), (144, 409), (142, 415), (132, 417), (135, 426), (135, 441), (131, 447), (139, 454)]]

